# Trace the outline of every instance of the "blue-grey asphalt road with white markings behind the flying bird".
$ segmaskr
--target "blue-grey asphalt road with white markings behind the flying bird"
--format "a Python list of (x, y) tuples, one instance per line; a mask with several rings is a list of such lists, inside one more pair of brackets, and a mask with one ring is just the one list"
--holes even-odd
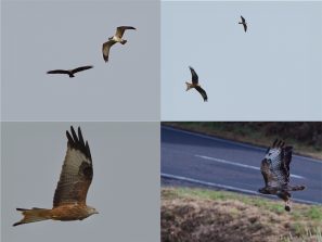
[[(263, 187), (266, 149), (162, 126), (162, 178), (248, 194)], [(322, 161), (293, 155), (291, 183), (305, 184), (293, 201), (322, 204)], [(271, 196), (271, 195), (268, 195)]]

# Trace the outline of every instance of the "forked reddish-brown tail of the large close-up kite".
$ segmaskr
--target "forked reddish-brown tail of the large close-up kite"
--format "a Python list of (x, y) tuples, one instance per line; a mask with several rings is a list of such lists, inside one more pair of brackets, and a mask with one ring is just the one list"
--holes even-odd
[(42, 221), (50, 219), (50, 209), (33, 207), (33, 209), (16, 208), (21, 211), (24, 218), (18, 222), (13, 224), (13, 226), (24, 225), (28, 222)]

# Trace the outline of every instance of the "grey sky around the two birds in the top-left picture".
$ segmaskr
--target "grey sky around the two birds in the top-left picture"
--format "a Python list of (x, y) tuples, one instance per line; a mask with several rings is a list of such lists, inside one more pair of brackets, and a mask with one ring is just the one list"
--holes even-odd
[[(1, 21), (4, 120), (159, 119), (159, 3), (5, 1)], [(105, 64), (102, 43), (120, 25), (138, 30)], [(75, 78), (46, 74), (88, 64)]]

